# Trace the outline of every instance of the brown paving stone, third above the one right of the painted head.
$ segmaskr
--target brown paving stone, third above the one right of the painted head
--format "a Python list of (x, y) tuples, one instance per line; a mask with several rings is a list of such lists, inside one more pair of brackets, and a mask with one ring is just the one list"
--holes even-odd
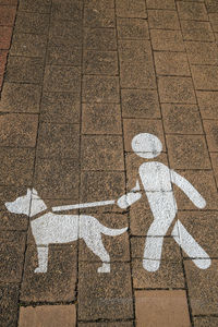
[(191, 75), (185, 53), (158, 51), (154, 56), (158, 75)]

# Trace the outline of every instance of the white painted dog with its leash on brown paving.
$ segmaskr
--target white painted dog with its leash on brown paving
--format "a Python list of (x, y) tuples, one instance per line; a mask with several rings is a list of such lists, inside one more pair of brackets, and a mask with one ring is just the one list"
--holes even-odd
[[(110, 204), (114, 201), (109, 202)], [(93, 205), (105, 205), (108, 202), (93, 203)], [(93, 206), (87, 204), (87, 207)], [(102, 262), (98, 272), (110, 272), (110, 256), (106, 251), (101, 233), (116, 237), (128, 230), (110, 229), (102, 226), (96, 218), (85, 215), (57, 215), (52, 211), (44, 213), (47, 209), (46, 204), (38, 196), (35, 190), (27, 190), (27, 194), (17, 197), (14, 202), (5, 203), (9, 211), (14, 214), (24, 214), (34, 217), (41, 213), (39, 218), (31, 221), (31, 228), (37, 245), (38, 267), (35, 272), (46, 272), (48, 270), (48, 246), (53, 243), (69, 243), (83, 239), (86, 245)], [(71, 206), (75, 208), (75, 206)], [(80, 207), (80, 205), (76, 205)], [(82, 205), (85, 207), (85, 204)], [(66, 207), (55, 207), (56, 210), (63, 210)], [(68, 206), (69, 209), (69, 206)]]

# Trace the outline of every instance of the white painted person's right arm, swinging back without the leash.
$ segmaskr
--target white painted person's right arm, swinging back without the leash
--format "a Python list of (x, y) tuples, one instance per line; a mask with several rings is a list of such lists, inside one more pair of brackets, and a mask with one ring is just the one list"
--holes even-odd
[(170, 174), (172, 183), (178, 185), (197, 208), (203, 209), (206, 206), (206, 201), (204, 199), (204, 197), (186, 179), (181, 177), (172, 169), (170, 170)]

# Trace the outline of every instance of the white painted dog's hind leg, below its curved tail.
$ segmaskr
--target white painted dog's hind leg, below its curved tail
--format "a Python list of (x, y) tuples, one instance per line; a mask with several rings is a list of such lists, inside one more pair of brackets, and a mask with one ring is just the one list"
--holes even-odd
[(110, 272), (110, 256), (102, 244), (101, 234), (85, 235), (83, 240), (102, 262), (102, 266), (98, 268), (98, 272)]

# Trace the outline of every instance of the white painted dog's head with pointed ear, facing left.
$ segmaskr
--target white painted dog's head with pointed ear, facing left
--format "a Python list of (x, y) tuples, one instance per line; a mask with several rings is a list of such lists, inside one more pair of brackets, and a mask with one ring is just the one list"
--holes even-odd
[[(33, 190), (34, 193), (37, 193)], [(7, 209), (12, 214), (29, 215), (32, 191), (28, 189), (26, 195), (17, 197), (13, 202), (7, 202), (4, 205)]]

